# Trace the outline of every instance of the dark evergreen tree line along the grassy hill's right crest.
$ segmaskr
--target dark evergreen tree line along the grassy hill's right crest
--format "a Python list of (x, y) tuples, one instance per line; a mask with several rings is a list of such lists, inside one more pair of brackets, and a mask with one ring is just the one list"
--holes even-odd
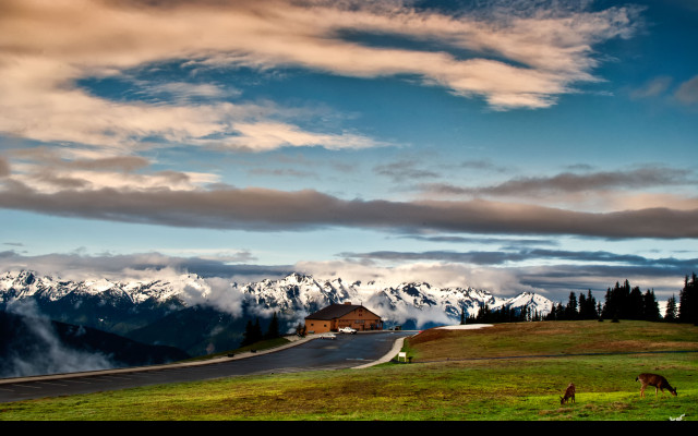
[(603, 303), (597, 301), (589, 290), (586, 294), (569, 293), (567, 304), (553, 303), (544, 316), (530, 307), (513, 310), (501, 307), (491, 310), (488, 304), (480, 307), (477, 315), (467, 318), (461, 313), (460, 324), (473, 323), (513, 323), (524, 320), (575, 320), (575, 319), (639, 319), (650, 322), (691, 323), (698, 325), (698, 279), (694, 272), (686, 276), (684, 288), (676, 296), (667, 300), (662, 315), (653, 290), (642, 292), (639, 287), (630, 287), (628, 280), (616, 282), (606, 290)]

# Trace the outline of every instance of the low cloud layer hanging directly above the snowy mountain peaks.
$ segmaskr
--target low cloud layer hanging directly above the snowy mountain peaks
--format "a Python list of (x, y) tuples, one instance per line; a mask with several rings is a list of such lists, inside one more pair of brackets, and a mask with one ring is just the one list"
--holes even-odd
[[(677, 294), (684, 276), (697, 259), (651, 258), (612, 252), (573, 252), (522, 249), (502, 252), (372, 252), (338, 253), (335, 261), (303, 261), (293, 265), (249, 265), (230, 258), (176, 257), (160, 253), (132, 255), (48, 254), (25, 256), (0, 252), (2, 270), (32, 269), (68, 280), (111, 279), (180, 280), (182, 274), (204, 278), (202, 289), (191, 289), (188, 301), (207, 302), (230, 313), (240, 310), (240, 295), (231, 283), (282, 278), (291, 272), (318, 280), (347, 282), (376, 280), (386, 286), (428, 282), (436, 287), (485, 289), (500, 296), (522, 291), (566, 301), (570, 291), (592, 290), (599, 300), (616, 281), (631, 278), (634, 286), (653, 289), (666, 300)], [(527, 263), (538, 266), (527, 265)], [(204, 299), (204, 300), (202, 300)]]

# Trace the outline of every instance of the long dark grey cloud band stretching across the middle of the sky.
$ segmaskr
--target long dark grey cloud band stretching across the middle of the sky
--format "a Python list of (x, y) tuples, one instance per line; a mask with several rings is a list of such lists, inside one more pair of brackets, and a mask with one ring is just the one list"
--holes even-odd
[[(9, 186), (8, 186), (9, 185)], [(8, 183), (0, 207), (40, 214), (173, 227), (251, 231), (326, 227), (417, 232), (698, 238), (698, 209), (585, 213), (483, 199), (390, 202), (341, 199), (313, 190), (222, 187), (207, 191), (36, 192)]]

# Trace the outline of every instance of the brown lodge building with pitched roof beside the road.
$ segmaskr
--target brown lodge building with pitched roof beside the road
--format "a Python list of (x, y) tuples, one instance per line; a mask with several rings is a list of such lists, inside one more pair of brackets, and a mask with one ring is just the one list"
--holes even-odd
[(363, 305), (330, 304), (305, 317), (305, 331), (324, 334), (351, 327), (357, 331), (383, 330), (383, 320)]

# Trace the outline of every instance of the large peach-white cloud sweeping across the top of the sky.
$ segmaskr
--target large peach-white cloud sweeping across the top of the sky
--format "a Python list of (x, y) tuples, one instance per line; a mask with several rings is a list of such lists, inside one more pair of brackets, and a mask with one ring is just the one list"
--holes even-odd
[[(143, 144), (148, 137), (208, 144), (212, 136), (234, 145), (244, 140), (243, 146), (252, 149), (375, 146), (359, 134), (306, 132), (279, 123), (274, 112), (251, 120), (246, 113), (260, 108), (217, 102), (231, 93), (219, 85), (180, 80), (144, 84), (145, 93), (179, 96), (171, 104), (148, 105), (97, 97), (76, 81), (170, 60), (293, 65), (363, 77), (407, 74), (456, 95), (482, 97), (495, 109), (542, 108), (574, 92), (575, 83), (598, 81), (591, 72), (598, 63), (592, 45), (627, 37), (637, 14), (631, 8), (533, 10), (494, 20), (447, 16), (399, 2), (349, 3), (5, 1), (0, 11), (0, 132), (113, 148), (154, 146)], [(372, 47), (342, 38), (345, 31), (436, 41), (444, 49)], [(447, 52), (449, 47), (481, 55), (459, 59)], [(194, 96), (210, 101), (194, 102)]]

